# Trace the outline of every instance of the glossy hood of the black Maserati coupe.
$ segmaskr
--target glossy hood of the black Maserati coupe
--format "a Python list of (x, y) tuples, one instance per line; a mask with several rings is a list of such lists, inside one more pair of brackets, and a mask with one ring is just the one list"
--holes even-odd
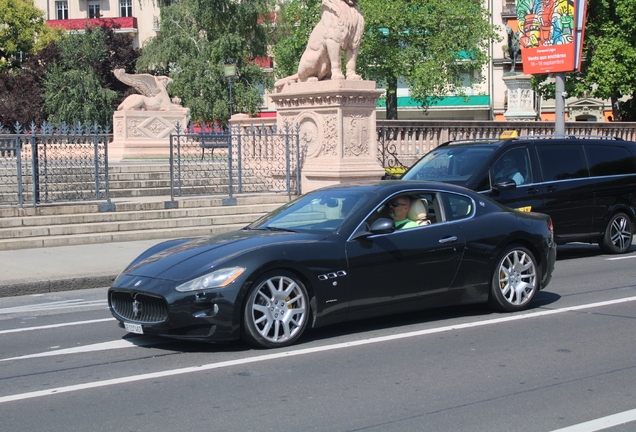
[(324, 235), (308, 233), (232, 231), (195, 238), (160, 250), (134, 262), (124, 271), (124, 274), (182, 281), (211, 271), (233, 257), (256, 249), (281, 247), (290, 243), (317, 242), (324, 238)]

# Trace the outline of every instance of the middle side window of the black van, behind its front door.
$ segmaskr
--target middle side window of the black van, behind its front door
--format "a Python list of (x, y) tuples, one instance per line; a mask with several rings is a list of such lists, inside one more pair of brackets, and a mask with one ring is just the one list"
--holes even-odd
[(580, 144), (538, 145), (544, 181), (589, 177), (583, 146)]

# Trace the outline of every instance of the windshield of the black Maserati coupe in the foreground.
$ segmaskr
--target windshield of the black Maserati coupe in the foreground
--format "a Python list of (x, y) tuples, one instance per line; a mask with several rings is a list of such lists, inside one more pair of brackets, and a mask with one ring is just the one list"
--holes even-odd
[(316, 191), (263, 216), (247, 229), (334, 232), (354, 217), (369, 198), (361, 191)]

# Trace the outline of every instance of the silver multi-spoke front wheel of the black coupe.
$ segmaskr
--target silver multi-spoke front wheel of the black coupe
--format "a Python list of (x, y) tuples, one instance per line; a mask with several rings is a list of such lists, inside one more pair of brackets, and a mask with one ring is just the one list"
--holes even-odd
[(265, 279), (250, 296), (248, 305), (249, 327), (260, 336), (257, 342), (282, 346), (294, 341), (305, 328), (307, 305), (307, 290), (300, 282), (280, 275)]

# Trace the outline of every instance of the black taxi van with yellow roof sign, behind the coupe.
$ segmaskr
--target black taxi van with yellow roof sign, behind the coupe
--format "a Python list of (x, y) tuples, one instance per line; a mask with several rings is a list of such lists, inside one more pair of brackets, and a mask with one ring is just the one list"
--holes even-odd
[(612, 137), (530, 136), (450, 141), (402, 176), (434, 180), (552, 217), (557, 244), (627, 252), (636, 217), (636, 143)]

